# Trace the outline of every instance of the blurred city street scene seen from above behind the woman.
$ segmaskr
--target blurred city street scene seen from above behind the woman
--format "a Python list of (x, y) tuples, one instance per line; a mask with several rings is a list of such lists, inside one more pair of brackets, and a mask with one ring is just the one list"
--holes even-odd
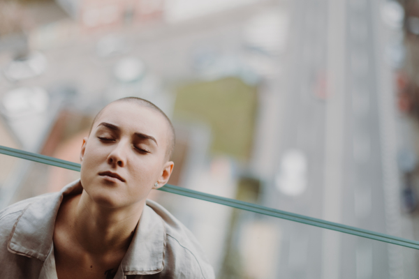
[[(169, 183), (419, 240), (418, 0), (2, 0), (0, 145), (79, 163), (112, 100)], [(0, 155), (0, 209), (79, 173)], [(419, 278), (416, 250), (154, 190), (217, 278)]]

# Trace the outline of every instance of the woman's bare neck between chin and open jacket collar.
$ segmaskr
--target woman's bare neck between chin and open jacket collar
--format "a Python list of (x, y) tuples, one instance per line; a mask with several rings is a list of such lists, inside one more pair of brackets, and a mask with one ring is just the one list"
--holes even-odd
[(96, 204), (83, 190), (71, 201), (73, 234), (90, 254), (126, 252), (145, 202), (120, 209)]

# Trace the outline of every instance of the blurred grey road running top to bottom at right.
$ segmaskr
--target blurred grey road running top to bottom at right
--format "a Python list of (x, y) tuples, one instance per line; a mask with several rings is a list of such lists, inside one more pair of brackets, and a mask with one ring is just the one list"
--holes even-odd
[[(392, 119), (395, 114), (383, 107), (392, 104), (381, 100), (392, 91), (391, 82), (381, 74), (383, 67), (390, 70), (382, 62), (385, 41), (380, 37), (379, 3), (291, 3), (285, 67), (288, 90), (278, 97), (286, 105), (281, 106), (280, 119), (271, 121), (279, 127), (273, 141), (277, 145), (265, 146), (275, 150), (277, 160), (271, 162), (278, 166), (273, 169), (266, 202), (278, 209), (393, 234), (395, 230), (388, 228), (394, 227), (394, 218), (388, 216), (397, 215), (399, 207), (385, 202), (397, 204), (399, 196), (396, 192), (390, 199), (385, 197), (385, 183), (392, 181), (397, 188), (397, 178), (385, 169), (394, 157), (385, 153), (395, 146), (383, 137), (392, 123), (383, 122), (382, 115)], [(389, 89), (383, 91), (383, 86)], [(308, 162), (307, 190), (295, 197), (281, 193), (274, 182), (282, 156), (291, 149), (302, 151)], [(281, 223), (281, 235), (277, 266), (281, 278), (404, 278), (401, 256), (387, 244), (291, 222)], [(406, 272), (406, 278), (416, 278), (411, 272)]]

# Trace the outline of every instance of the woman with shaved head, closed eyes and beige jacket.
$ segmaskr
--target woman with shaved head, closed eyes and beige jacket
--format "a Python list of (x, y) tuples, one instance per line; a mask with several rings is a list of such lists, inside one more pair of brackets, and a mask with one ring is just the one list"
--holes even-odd
[(0, 278), (214, 278), (191, 232), (146, 200), (170, 178), (174, 142), (147, 100), (106, 106), (83, 139), (80, 180), (0, 212)]

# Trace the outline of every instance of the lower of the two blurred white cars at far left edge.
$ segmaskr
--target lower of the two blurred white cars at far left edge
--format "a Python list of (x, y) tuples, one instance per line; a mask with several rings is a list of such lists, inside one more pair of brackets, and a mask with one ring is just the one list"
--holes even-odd
[(45, 112), (50, 103), (50, 97), (41, 87), (20, 87), (8, 91), (1, 98), (1, 113), (10, 118), (30, 116)]

